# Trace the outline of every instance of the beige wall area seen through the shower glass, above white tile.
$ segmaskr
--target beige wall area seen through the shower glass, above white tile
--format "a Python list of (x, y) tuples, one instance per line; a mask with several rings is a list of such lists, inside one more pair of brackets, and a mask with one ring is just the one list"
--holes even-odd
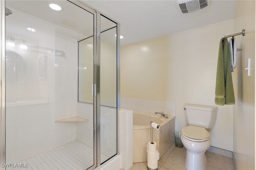
[[(100, 43), (100, 99), (101, 105), (116, 107), (116, 38), (110, 39), (108, 30), (101, 35)], [(94, 82), (93, 37), (79, 42), (78, 101), (93, 103)], [(86, 67), (86, 69), (84, 69)]]

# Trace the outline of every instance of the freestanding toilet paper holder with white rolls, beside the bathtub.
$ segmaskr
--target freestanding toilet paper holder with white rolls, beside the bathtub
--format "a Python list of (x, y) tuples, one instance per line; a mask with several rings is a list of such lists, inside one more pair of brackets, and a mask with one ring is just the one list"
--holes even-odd
[(153, 141), (153, 128), (159, 129), (160, 125), (150, 121), (150, 141), (147, 144), (148, 170), (158, 170), (159, 152), (156, 150), (156, 142)]

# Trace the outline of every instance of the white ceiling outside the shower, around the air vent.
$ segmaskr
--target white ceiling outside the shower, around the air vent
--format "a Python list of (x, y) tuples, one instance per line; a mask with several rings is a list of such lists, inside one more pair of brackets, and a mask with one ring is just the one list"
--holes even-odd
[(121, 45), (230, 20), (236, 8), (236, 0), (212, 0), (202, 10), (182, 14), (176, 0), (83, 1), (121, 24)]

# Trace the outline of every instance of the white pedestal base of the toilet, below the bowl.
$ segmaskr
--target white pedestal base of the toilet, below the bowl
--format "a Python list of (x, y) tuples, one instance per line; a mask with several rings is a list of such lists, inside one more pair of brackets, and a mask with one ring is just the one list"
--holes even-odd
[(187, 170), (205, 170), (206, 169), (206, 156), (204, 152), (190, 152), (186, 153), (186, 168)]

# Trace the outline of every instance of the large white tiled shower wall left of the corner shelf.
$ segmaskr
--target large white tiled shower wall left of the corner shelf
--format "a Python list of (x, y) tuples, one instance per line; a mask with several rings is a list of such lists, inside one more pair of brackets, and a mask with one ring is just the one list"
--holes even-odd
[[(18, 29), (6, 32), (6, 35), (38, 46), (28, 46), (26, 50), (18, 45), (6, 45), (6, 50), (19, 53), (25, 61), (23, 72), (6, 69), (6, 99), (12, 99), (6, 100), (8, 163), (19, 162), (76, 140), (76, 123), (55, 123), (58, 119), (76, 115), (77, 41), (68, 36), (74, 32), (23, 12), (12, 11), (16, 22), (19, 17), (29, 17), (33, 22), (45, 25), (45, 35), (42, 40), (36, 39), (37, 36), (23, 36)], [(64, 53), (53, 54), (50, 49)], [(44, 58), (44, 65), (39, 64), (39, 57)], [(45, 68), (44, 77), (39, 77), (39, 67), (42, 66)]]

